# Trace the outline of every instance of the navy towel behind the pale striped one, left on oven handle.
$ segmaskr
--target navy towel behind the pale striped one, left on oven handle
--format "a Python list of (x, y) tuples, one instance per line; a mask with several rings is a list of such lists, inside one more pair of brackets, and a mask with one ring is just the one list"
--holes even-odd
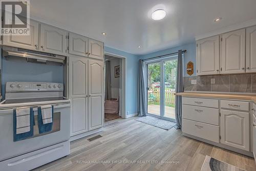
[(34, 111), (33, 108), (30, 108), (30, 112), (29, 112), (29, 120), (30, 120), (30, 131), (26, 132), (26, 133), (21, 133), (21, 134), (17, 134), (17, 118), (16, 118), (16, 109), (13, 110), (13, 141), (20, 141), (20, 140), (24, 140), (27, 139), (29, 137), (33, 137), (34, 135)]

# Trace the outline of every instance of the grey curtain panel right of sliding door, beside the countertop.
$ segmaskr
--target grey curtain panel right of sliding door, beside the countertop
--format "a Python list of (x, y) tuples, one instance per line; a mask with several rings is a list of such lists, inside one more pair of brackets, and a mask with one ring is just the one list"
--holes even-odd
[[(177, 66), (177, 81), (176, 81), (176, 93), (183, 92), (183, 61), (182, 61), (182, 51), (179, 50), (178, 53), (178, 66)], [(182, 105), (182, 97), (175, 96), (175, 117), (176, 117), (176, 129), (181, 129), (181, 105)]]

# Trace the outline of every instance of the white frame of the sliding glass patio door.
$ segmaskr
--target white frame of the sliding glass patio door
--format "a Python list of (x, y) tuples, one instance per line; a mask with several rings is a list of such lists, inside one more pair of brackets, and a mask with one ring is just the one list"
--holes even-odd
[[(165, 119), (165, 120), (170, 120), (173, 122), (176, 122), (176, 119), (173, 118), (168, 118), (164, 116), (164, 62), (168, 60), (175, 60), (178, 59), (178, 55), (172, 55), (160, 59), (153, 59), (153, 60), (145, 60), (143, 62), (144, 67), (144, 80), (145, 80), (145, 94), (146, 94), (146, 103), (147, 103), (147, 86), (148, 86), (148, 78), (147, 78), (147, 65), (150, 63), (159, 63), (160, 64), (160, 116), (154, 115), (154, 114), (148, 114), (149, 116), (154, 116), (157, 118)], [(161, 105), (162, 104), (162, 105)]]

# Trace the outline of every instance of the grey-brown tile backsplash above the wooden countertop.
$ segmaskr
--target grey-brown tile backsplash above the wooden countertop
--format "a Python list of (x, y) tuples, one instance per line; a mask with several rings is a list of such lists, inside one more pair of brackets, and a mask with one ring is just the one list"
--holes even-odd
[[(183, 80), (184, 91), (256, 93), (256, 74), (205, 75)], [(197, 84), (191, 84), (191, 80), (197, 80)]]

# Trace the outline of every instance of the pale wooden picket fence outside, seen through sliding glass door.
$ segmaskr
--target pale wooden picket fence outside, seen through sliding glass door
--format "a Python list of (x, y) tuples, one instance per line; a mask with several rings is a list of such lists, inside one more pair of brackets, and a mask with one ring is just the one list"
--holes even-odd
[[(147, 97), (149, 97), (150, 94), (153, 94), (156, 97), (156, 102), (160, 102), (160, 91), (148, 91)], [(165, 90), (164, 91), (164, 103), (165, 104), (175, 104), (175, 91), (172, 90)]]

